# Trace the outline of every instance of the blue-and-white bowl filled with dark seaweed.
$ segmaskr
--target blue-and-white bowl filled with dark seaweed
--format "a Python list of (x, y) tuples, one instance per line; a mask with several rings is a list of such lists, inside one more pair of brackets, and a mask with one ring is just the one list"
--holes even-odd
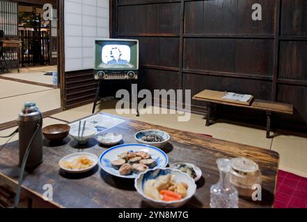
[(136, 133), (134, 138), (141, 144), (163, 148), (171, 137), (162, 130), (142, 130)]

